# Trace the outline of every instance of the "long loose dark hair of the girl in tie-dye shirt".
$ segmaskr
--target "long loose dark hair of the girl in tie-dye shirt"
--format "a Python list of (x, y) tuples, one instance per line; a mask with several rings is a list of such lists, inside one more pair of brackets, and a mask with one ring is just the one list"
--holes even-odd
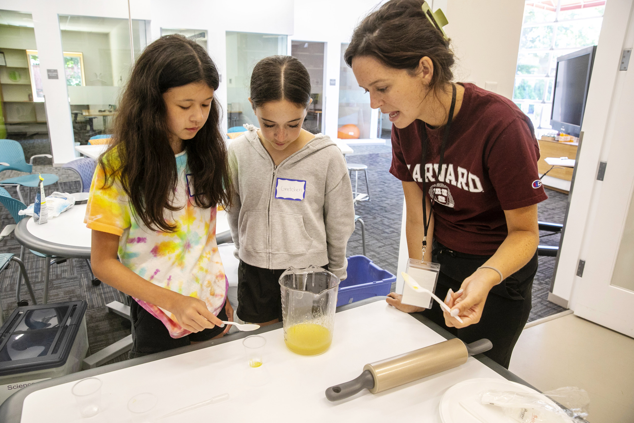
[[(218, 71), (205, 49), (179, 35), (152, 42), (134, 64), (114, 121), (113, 143), (99, 159), (106, 174), (105, 185), (112, 185), (115, 176), (119, 177), (135, 218), (152, 230), (176, 230), (165, 221), (164, 212), (178, 210), (171, 204), (178, 174), (162, 94), (191, 82), (218, 88)], [(214, 97), (207, 122), (194, 138), (183, 143), (193, 198), (204, 209), (228, 205), (231, 198), (220, 117), (221, 107)], [(118, 160), (110, 160), (110, 152), (116, 153)]]

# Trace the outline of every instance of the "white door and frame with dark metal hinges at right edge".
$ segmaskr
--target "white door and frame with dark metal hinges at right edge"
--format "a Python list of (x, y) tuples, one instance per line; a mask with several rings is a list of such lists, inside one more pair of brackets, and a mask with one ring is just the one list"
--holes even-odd
[[(598, 75), (593, 72), (592, 75), (593, 82), (598, 83), (595, 87), (591, 85), (591, 89), (595, 88), (595, 96), (588, 96), (586, 116), (590, 111), (592, 123), (588, 131), (584, 122), (585, 136), (577, 174), (582, 164), (585, 165), (585, 172), (575, 181), (554, 286), (557, 289), (557, 283), (564, 279), (564, 270), (573, 270), (575, 276), (570, 307), (574, 313), (628, 336), (634, 336), (634, 317), (628, 313), (634, 308), (634, 292), (611, 285), (611, 280), (634, 192), (634, 135), (631, 131), (634, 72), (618, 70), (621, 51), (631, 48), (634, 43), (633, 3), (632, 0), (612, 0), (606, 7), (606, 14), (609, 7), (612, 6), (614, 10), (611, 10), (609, 22), (604, 20), (602, 25), (595, 58), (595, 67), (598, 65), (600, 72)], [(604, 46), (606, 48), (599, 56), (599, 49)], [(608, 83), (611, 83), (609, 89), (605, 86)], [(604, 90), (604, 93), (597, 93), (598, 89)], [(608, 99), (609, 103), (605, 107), (605, 100)], [(597, 100), (597, 103), (593, 103), (593, 100)], [(599, 110), (598, 107), (604, 109)], [(599, 117), (605, 119), (603, 127), (598, 126)], [(592, 134), (590, 138), (589, 133)], [(594, 153), (594, 157), (588, 157), (591, 153)], [(596, 169), (600, 161), (607, 162), (604, 181), (596, 181)], [(581, 193), (577, 197), (579, 186)], [(589, 189), (592, 191), (588, 196)], [(584, 200), (587, 201), (587, 207), (576, 208)], [(583, 221), (581, 218), (585, 218), (586, 223), (579, 227), (577, 225)], [(577, 249), (572, 245), (574, 242), (578, 243)], [(578, 252), (576, 257), (573, 256), (574, 252)], [(574, 260), (571, 260), (572, 257)], [(585, 261), (582, 277), (576, 275), (579, 259)]]

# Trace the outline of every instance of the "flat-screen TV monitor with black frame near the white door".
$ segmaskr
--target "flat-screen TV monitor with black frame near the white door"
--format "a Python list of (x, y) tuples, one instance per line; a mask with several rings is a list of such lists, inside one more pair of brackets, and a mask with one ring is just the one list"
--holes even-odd
[(550, 126), (555, 131), (572, 136), (579, 136), (581, 133), (596, 51), (597, 46), (592, 46), (557, 58), (553, 109), (550, 115)]

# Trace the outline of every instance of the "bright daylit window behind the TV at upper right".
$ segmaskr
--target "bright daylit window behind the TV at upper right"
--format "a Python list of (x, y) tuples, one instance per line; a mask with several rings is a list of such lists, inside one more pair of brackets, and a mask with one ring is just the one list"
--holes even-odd
[(513, 101), (538, 138), (551, 131), (557, 57), (598, 42), (605, 0), (527, 0), (517, 56)]

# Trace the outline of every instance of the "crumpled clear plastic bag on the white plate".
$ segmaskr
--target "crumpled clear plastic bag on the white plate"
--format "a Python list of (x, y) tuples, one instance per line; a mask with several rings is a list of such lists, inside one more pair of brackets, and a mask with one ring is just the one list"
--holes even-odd
[(489, 390), (481, 394), (480, 401), (502, 407), (508, 417), (521, 423), (585, 422), (590, 405), (588, 393), (574, 386), (543, 394)]

